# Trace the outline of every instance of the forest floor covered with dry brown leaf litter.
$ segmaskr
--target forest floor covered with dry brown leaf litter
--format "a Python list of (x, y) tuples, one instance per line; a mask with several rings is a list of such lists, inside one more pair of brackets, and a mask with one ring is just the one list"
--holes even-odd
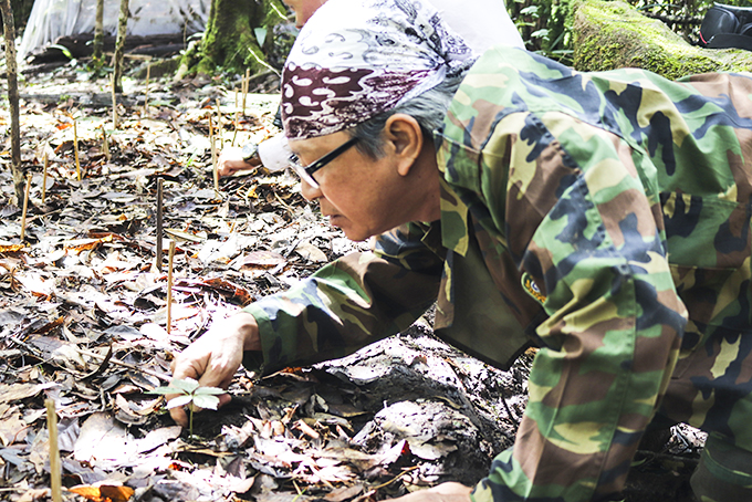
[[(125, 87), (114, 128), (106, 80), (72, 65), (27, 77), (25, 220), (0, 109), (0, 500), (51, 500), (45, 400), (66, 501), (375, 501), (483, 478), (513, 442), (534, 352), (501, 372), (438, 341), (425, 318), (344, 359), (263, 379), (241, 369), (230, 405), (197, 414), (192, 430), (170, 420), (149, 393), (167, 385), (175, 354), (364, 244), (330, 228), (286, 172), (215, 186), (210, 129), (217, 149), (273, 134), (276, 95), (250, 95), (243, 109), (222, 82), (154, 79), (144, 106), (146, 82)], [(654, 436), (627, 500), (691, 500), (701, 445), (687, 427)]]

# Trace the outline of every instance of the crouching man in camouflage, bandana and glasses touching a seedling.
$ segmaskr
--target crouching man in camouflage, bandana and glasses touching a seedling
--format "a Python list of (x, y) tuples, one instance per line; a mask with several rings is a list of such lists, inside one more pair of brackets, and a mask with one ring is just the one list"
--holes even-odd
[(752, 500), (750, 95), (743, 75), (476, 61), (420, 2), (330, 0), (289, 56), (282, 119), (304, 197), (373, 252), (213, 326), (174, 375), (340, 357), (437, 301), (437, 334), (470, 354), (541, 349), (489, 475), (406, 500), (622, 500), (657, 421), (710, 432), (699, 500)]

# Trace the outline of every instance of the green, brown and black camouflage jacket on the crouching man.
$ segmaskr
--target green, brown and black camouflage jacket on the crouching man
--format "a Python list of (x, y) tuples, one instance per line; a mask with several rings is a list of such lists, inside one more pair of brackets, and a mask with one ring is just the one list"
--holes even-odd
[[(473, 499), (617, 500), (677, 360), (714, 376), (728, 365), (713, 357), (750, 352), (734, 342), (752, 300), (750, 95), (742, 75), (672, 83), (487, 52), (437, 134), (440, 223), (382, 236), (249, 307), (264, 362), (351, 352), (438, 296), (438, 332), (487, 360), (524, 335), (542, 347), (515, 445)], [(682, 391), (685, 408), (702, 402)]]

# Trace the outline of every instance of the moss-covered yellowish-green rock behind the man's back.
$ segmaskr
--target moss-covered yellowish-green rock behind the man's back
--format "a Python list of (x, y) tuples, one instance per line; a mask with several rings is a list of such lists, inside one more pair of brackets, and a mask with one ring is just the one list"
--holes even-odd
[(752, 72), (752, 52), (690, 45), (662, 22), (622, 1), (578, 0), (573, 9), (574, 67), (650, 70), (667, 79), (707, 72)]

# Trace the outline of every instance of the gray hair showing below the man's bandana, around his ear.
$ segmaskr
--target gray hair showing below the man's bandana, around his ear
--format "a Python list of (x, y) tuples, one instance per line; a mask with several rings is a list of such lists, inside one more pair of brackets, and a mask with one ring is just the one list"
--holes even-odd
[(348, 130), (351, 137), (358, 138), (355, 148), (372, 159), (383, 157), (384, 136), (382, 133), (389, 117), (397, 113), (404, 113), (415, 118), (420, 125), (424, 138), (432, 139), (434, 130), (438, 129), (443, 123), (443, 117), (462, 82), (462, 76), (464, 75), (446, 79), (436, 87), (351, 128)]

